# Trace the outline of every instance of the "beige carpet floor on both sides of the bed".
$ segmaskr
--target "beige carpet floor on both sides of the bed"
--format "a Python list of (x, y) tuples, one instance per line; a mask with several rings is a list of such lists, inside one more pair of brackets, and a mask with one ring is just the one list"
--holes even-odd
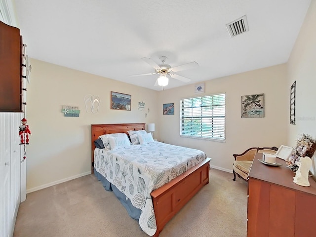
[[(247, 183), (210, 170), (204, 186), (171, 219), (159, 237), (245, 237)], [(27, 195), (14, 237), (148, 237), (112, 192), (94, 175)]]

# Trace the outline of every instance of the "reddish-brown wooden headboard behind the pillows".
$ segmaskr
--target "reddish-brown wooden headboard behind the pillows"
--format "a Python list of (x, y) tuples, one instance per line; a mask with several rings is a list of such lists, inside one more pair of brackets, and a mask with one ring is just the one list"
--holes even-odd
[(129, 130), (145, 130), (145, 123), (91, 124), (91, 173), (93, 174), (94, 141), (103, 134), (124, 132)]

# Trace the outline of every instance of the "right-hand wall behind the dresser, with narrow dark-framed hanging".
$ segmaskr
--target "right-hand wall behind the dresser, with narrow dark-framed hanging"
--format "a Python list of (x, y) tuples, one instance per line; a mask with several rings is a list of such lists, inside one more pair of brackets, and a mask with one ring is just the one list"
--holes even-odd
[[(287, 143), (296, 145), (300, 134), (306, 133), (316, 139), (316, 1), (306, 14), (299, 36), (287, 63), (287, 98), (292, 83), (296, 81), (296, 125), (286, 121), (289, 136)], [(289, 102), (288, 102), (289, 103)], [(289, 105), (287, 106), (289, 115)], [(313, 159), (313, 173), (316, 174), (316, 157)]]

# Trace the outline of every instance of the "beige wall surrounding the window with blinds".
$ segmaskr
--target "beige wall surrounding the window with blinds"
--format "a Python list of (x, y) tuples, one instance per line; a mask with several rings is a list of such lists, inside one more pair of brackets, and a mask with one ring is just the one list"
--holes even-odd
[[(204, 151), (211, 165), (226, 171), (233, 169), (233, 154), (250, 147), (279, 147), (286, 143), (288, 89), (286, 65), (259, 69), (205, 82), (205, 93), (195, 94), (194, 85), (159, 93), (160, 141)], [(197, 95), (226, 92), (226, 142), (180, 137), (180, 99)], [(240, 97), (265, 94), (265, 118), (241, 118)], [(162, 115), (162, 104), (173, 103), (174, 115)]]

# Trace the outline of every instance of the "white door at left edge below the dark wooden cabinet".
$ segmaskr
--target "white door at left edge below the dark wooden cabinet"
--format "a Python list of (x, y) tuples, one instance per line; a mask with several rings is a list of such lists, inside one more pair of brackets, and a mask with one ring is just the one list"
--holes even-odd
[(13, 235), (20, 204), (20, 113), (0, 113), (0, 237)]

